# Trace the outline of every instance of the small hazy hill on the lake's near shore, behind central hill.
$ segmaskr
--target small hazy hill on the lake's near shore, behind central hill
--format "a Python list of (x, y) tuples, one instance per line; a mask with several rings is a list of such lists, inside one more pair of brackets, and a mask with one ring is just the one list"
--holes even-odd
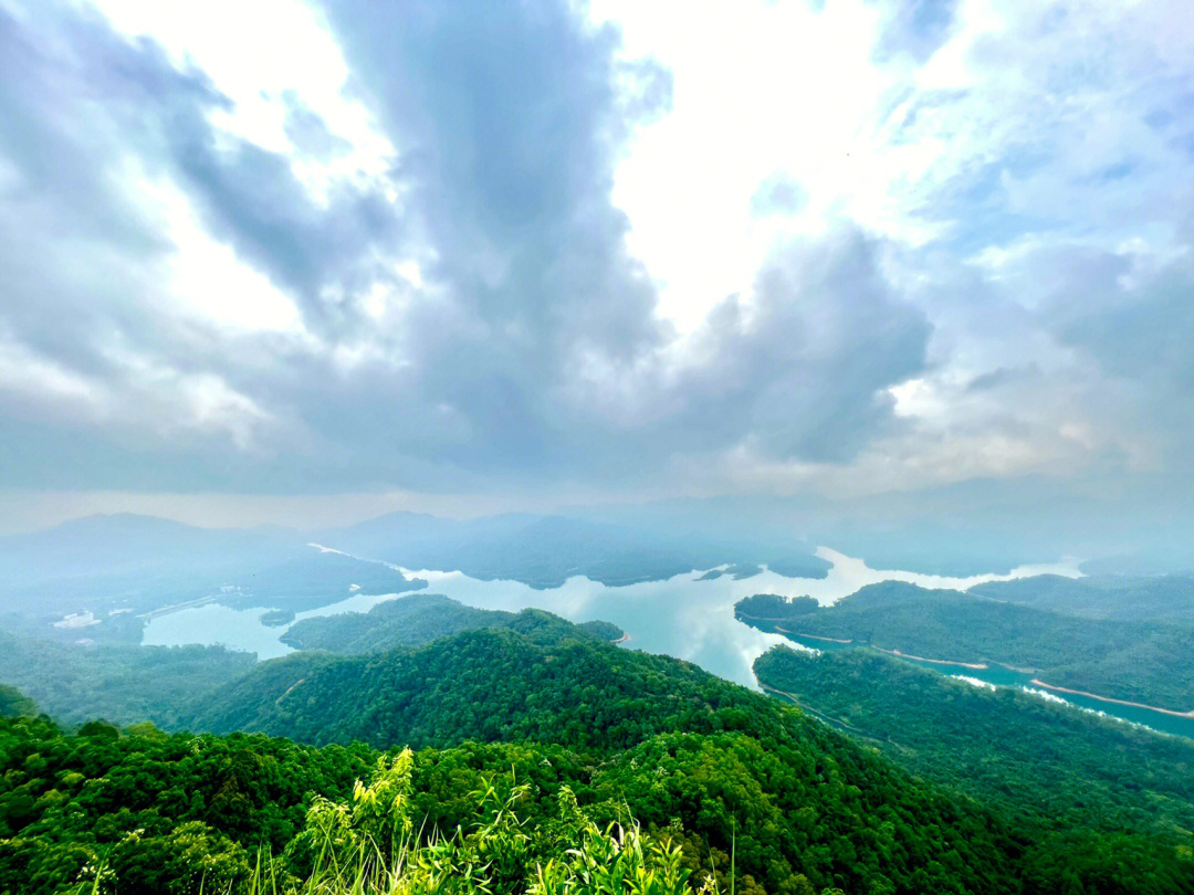
[(295, 649), (363, 654), (414, 647), (478, 628), (509, 628), (533, 640), (560, 640), (571, 635), (613, 641), (622, 636), (621, 629), (608, 622), (574, 625), (540, 610), (474, 609), (442, 594), (414, 593), (380, 603), (365, 613), (304, 618), (282, 635), (282, 642)]

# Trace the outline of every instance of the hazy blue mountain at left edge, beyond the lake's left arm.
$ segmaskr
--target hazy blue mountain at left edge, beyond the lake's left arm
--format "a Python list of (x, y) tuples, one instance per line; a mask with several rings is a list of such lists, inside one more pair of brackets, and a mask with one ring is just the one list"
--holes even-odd
[(426, 586), (383, 563), (316, 550), (294, 532), (210, 531), (146, 517), (6, 538), (0, 554), (18, 567), (0, 590), (0, 630), (68, 643), (140, 643), (146, 618), (187, 604), (302, 612)]

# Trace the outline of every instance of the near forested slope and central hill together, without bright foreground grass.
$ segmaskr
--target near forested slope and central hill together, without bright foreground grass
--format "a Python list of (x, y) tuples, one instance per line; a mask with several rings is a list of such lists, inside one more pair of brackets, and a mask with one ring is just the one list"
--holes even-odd
[[(298, 655), (263, 672), (256, 687), (246, 680), (224, 695), (258, 697), (252, 712), (224, 723), (447, 747), (416, 757), (416, 819), (427, 816), (432, 829), (450, 834), (468, 821), (491, 785), (485, 773), (499, 790), (531, 785), (515, 806), (525, 835), (555, 816), (567, 784), (602, 821), (629, 811), (657, 840), (681, 845), (694, 871), (728, 874), (733, 852), (744, 893), (1021, 890), (1028, 844), (1007, 821), (676, 660), (470, 631), (383, 656)], [(507, 743), (462, 742), (469, 737)], [(288, 837), (312, 794), (343, 797), (346, 778), (365, 776), (364, 748), (2, 722), (0, 891), (53, 891), (29, 881), (75, 878), (105, 851), (119, 863), (121, 893), (160, 890), (128, 881), (161, 881), (187, 854), (216, 856), (229, 874), (263, 839), (293, 854)], [(136, 842), (130, 831), (141, 831)], [(578, 844), (558, 842), (549, 857)], [(197, 891), (197, 882), (178, 890)]]

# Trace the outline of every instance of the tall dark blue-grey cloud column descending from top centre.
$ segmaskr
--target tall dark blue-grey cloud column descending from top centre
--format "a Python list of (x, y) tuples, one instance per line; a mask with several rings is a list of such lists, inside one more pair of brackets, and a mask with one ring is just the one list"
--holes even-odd
[(458, 300), (525, 338), (540, 372), (578, 342), (627, 357), (656, 341), (654, 295), (609, 190), (622, 116), (666, 101), (666, 79), (620, 68), (616, 35), (566, 4), (328, 8)]

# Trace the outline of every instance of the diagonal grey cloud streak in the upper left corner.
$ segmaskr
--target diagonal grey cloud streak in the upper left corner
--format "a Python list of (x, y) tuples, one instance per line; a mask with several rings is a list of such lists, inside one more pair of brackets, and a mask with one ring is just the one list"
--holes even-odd
[(374, 249), (401, 235), (399, 211), (376, 190), (341, 187), (316, 203), (287, 158), (217, 140), (208, 116), (230, 109), (228, 98), (148, 39), (129, 42), (93, 16), (47, 4), (26, 23), (0, 13), (0, 109), (13, 124), (0, 146), (56, 232), (124, 255), (168, 252), (142, 197), (121, 180), (134, 154), (149, 175), (189, 192), (213, 233), (296, 296), (316, 328), (343, 322), (373, 282)]

